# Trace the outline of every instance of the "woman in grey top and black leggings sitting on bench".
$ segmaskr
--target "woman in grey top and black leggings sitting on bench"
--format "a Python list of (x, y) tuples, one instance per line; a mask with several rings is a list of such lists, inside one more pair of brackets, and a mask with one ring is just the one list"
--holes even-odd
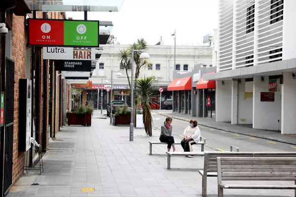
[(174, 151), (176, 151), (175, 147), (175, 140), (172, 136), (173, 126), (172, 124), (173, 119), (171, 117), (167, 117), (165, 122), (161, 126), (161, 133), (159, 140), (160, 142), (168, 143), (168, 152), (170, 152), (171, 147), (173, 146)]

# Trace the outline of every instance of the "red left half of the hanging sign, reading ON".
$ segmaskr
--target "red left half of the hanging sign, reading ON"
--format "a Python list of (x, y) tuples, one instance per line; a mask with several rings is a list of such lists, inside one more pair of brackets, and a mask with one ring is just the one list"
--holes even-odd
[(64, 45), (64, 21), (29, 20), (29, 43), (32, 45)]

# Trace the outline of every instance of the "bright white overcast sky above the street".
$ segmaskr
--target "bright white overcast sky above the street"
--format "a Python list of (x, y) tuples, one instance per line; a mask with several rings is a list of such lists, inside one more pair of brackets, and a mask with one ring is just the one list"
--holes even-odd
[[(83, 20), (83, 12), (67, 12)], [(88, 20), (112, 21), (111, 34), (120, 44), (144, 38), (155, 45), (203, 45), (203, 36), (218, 26), (218, 0), (124, 0), (119, 12), (88, 12)]]

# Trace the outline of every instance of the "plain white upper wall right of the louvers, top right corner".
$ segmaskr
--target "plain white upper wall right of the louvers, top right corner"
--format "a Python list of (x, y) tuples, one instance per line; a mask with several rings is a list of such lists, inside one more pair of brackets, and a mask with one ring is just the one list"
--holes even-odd
[(296, 0), (284, 2), (284, 25), (283, 25), (283, 60), (296, 58)]

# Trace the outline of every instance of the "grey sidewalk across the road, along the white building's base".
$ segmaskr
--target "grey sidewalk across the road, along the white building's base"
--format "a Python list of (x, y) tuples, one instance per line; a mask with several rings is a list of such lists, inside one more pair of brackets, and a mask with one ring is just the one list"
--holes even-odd
[(188, 120), (194, 118), (201, 126), (296, 145), (296, 135), (284, 135), (281, 134), (280, 131), (257, 130), (250, 128), (247, 125), (231, 125), (230, 123), (216, 122), (215, 120), (210, 118), (190, 117), (183, 114), (177, 114), (167, 111), (154, 111), (154, 113), (158, 113), (159, 115), (163, 116), (171, 116), (174, 119), (180, 120)]

